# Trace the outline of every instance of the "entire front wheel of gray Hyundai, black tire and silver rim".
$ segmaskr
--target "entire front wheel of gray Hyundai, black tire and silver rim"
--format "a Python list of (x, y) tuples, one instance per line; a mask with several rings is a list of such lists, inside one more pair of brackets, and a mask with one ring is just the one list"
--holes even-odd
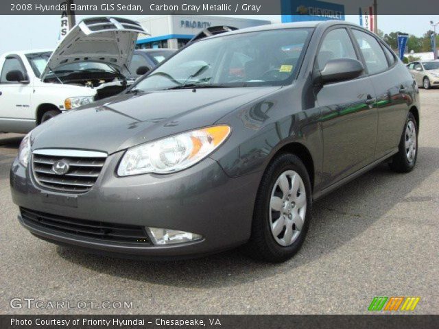
[(250, 256), (270, 263), (288, 260), (302, 246), (311, 220), (311, 183), (303, 162), (282, 154), (263, 174), (257, 193)]

